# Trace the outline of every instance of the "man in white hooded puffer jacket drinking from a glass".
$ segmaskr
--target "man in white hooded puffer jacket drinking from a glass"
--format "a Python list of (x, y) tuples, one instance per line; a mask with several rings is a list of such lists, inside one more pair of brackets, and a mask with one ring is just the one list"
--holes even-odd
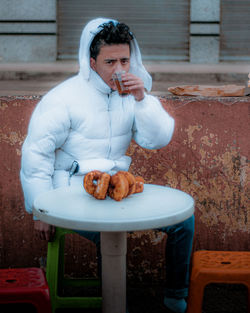
[[(171, 140), (174, 120), (147, 94), (152, 80), (127, 25), (102, 18), (89, 22), (81, 36), (79, 63), (79, 74), (45, 95), (32, 115), (20, 174), (29, 213), (38, 194), (82, 185), (91, 170), (127, 171), (131, 159), (125, 153), (132, 138), (147, 149)], [(112, 79), (121, 71), (129, 93), (123, 97)], [(54, 227), (34, 224), (42, 239), (53, 236)], [(193, 228), (192, 217), (163, 229), (168, 233), (164, 303), (174, 312), (186, 310)], [(99, 247), (99, 233), (81, 234)]]

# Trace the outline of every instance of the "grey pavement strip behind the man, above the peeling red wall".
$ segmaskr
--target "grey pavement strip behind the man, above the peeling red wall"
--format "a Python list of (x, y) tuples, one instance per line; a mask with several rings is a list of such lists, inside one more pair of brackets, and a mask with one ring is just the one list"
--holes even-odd
[[(144, 62), (144, 65), (152, 75), (155, 95), (166, 95), (168, 87), (186, 84), (246, 86), (250, 73), (249, 63)], [(77, 72), (76, 61), (0, 63), (0, 96), (43, 95)]]

